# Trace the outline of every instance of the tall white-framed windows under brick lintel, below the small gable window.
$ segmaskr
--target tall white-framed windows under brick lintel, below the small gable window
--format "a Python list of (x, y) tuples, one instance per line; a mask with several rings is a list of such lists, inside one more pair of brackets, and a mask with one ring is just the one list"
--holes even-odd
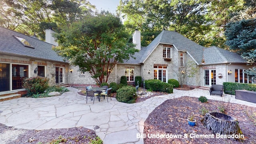
[(154, 79), (167, 82), (167, 66), (154, 66)]

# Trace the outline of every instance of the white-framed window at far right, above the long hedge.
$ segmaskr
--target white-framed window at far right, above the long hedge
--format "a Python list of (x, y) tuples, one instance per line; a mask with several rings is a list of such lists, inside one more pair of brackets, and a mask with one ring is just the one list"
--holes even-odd
[(235, 69), (235, 82), (252, 83), (252, 78), (244, 73), (245, 71), (245, 69)]

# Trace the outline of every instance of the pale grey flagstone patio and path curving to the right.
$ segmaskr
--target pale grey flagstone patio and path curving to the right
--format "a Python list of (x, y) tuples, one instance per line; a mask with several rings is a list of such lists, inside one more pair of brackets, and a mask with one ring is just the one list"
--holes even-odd
[(68, 88), (61, 96), (49, 98), (17, 98), (0, 102), (0, 123), (14, 128), (43, 130), (50, 128), (72, 128), (84, 126), (93, 129), (98, 125), (96, 134), (104, 144), (143, 144), (144, 122), (150, 112), (165, 100), (181, 96), (206, 96), (212, 100), (222, 100), (256, 107), (256, 104), (236, 100), (234, 96), (210, 96), (208, 90), (175, 90), (173, 94), (155, 96), (144, 102), (126, 104), (115, 98), (107, 102), (95, 98), (95, 103), (86, 96), (77, 93), (77, 89)]

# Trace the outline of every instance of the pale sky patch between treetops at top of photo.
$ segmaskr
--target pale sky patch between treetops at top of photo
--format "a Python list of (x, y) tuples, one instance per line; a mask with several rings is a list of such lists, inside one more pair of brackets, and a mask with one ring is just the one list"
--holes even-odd
[(117, 6), (120, 0), (88, 0), (92, 5), (96, 6), (97, 10), (108, 10), (116, 13)]

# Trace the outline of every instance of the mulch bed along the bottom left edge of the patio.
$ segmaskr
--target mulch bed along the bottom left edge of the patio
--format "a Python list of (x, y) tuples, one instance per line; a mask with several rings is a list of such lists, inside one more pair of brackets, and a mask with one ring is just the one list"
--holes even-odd
[[(0, 124), (0, 134), (8, 132), (17, 136), (16, 131), (22, 131), (17, 138), (10, 139), (4, 144), (89, 144), (95, 139), (95, 133), (88, 128), (60, 128), (49, 130), (22, 130)], [(2, 144), (0, 142), (0, 144)]]

